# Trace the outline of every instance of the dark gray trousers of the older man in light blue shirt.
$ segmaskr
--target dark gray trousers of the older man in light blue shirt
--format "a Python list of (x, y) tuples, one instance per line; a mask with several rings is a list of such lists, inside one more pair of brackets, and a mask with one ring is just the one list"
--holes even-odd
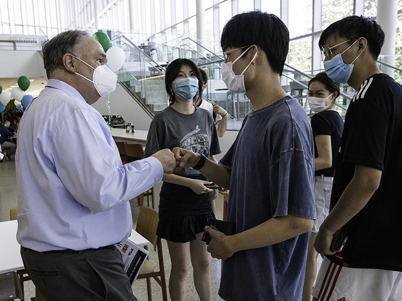
[(21, 256), (47, 301), (137, 301), (114, 246), (49, 252), (21, 247)]

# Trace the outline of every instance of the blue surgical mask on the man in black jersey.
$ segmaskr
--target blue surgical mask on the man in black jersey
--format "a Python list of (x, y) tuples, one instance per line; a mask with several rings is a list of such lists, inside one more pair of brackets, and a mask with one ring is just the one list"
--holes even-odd
[[(352, 47), (358, 40), (356, 40), (352, 45), (348, 47)], [(342, 59), (342, 54), (344, 54), (348, 49), (344, 52), (337, 54), (331, 60), (324, 61), (324, 69), (327, 73), (328, 77), (337, 83), (346, 84), (349, 81), (350, 75), (353, 71), (353, 63), (357, 60), (357, 58), (362, 54), (361, 52), (352, 62), (352, 64), (345, 64)]]

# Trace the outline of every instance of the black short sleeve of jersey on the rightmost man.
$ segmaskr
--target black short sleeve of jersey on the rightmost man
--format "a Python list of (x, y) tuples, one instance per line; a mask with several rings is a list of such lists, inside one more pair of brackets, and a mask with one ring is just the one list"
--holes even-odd
[(381, 102), (385, 100), (371, 96), (353, 103), (345, 141), (345, 163), (384, 170), (389, 114)]

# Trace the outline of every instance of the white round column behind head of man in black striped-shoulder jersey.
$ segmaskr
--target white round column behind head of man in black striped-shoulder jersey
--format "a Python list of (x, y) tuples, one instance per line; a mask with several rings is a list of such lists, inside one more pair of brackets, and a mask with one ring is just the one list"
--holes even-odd
[[(395, 65), (395, 37), (396, 37), (396, 20), (398, 11), (398, 1), (388, 0), (377, 3), (377, 23), (381, 26), (385, 33), (385, 41), (382, 46), (378, 59), (394, 66)], [(393, 77), (393, 69), (381, 66), (381, 71)]]

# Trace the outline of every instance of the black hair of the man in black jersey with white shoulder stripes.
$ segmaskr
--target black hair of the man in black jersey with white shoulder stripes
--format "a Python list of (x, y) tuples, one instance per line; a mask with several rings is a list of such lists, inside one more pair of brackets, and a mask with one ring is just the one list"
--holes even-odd
[(349, 41), (349, 44), (355, 42), (354, 39), (365, 38), (368, 51), (375, 60), (378, 59), (385, 39), (385, 34), (378, 23), (363, 16), (349, 16), (328, 26), (318, 42), (322, 50), (325, 49), (325, 41), (331, 35), (353, 40)]

